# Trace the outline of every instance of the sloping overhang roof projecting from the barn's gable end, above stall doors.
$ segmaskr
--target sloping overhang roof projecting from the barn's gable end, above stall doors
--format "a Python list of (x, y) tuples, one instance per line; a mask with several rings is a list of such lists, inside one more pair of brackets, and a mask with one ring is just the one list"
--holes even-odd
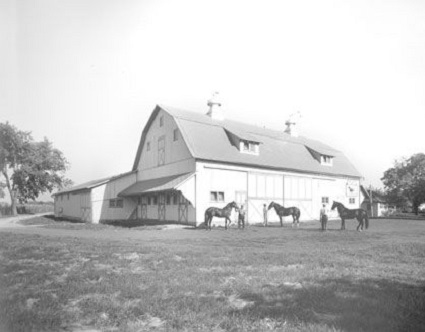
[(179, 190), (195, 173), (184, 173), (163, 178), (138, 181), (118, 193), (119, 197), (140, 196), (148, 193)]

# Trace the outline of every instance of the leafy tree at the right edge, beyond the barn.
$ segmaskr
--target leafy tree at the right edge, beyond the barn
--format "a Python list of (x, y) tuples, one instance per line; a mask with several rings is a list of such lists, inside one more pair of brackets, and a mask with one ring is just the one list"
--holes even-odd
[(417, 214), (419, 206), (425, 203), (425, 154), (417, 153), (395, 161), (394, 167), (386, 170), (381, 180), (390, 203), (410, 203)]

